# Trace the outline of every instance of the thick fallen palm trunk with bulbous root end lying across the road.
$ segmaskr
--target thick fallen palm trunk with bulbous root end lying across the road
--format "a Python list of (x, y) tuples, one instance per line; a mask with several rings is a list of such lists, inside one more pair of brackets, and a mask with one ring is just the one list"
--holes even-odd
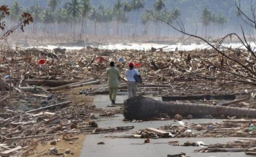
[(256, 117), (256, 109), (198, 103), (163, 102), (141, 95), (125, 100), (123, 115), (128, 120), (149, 120), (149, 118), (158, 116), (159, 113), (167, 113), (169, 115), (181, 114), (184, 116), (191, 114), (195, 115), (195, 117), (202, 115), (219, 117), (221, 114), (237, 117)]

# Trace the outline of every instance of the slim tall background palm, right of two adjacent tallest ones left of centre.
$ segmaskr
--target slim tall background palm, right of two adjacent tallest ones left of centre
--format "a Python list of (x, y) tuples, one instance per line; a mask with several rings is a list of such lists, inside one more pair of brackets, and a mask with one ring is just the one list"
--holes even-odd
[(92, 9), (92, 4), (90, 0), (81, 0), (81, 33), (80, 33), (80, 40), (81, 36), (84, 34), (84, 21), (87, 17), (89, 11)]

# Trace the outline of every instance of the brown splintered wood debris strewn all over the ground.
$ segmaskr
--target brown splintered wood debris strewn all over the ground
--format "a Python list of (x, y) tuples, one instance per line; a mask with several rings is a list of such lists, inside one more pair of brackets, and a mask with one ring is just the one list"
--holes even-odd
[[(189, 108), (195, 106), (198, 109), (190, 108), (187, 112), (184, 112), (184, 108), (183, 110), (172, 109), (172, 113), (166, 113), (158, 108), (157, 114), (148, 112), (146, 115), (129, 117), (127, 110), (131, 102), (127, 100), (125, 108), (101, 111), (103, 114), (96, 117), (94, 106), (73, 104), (66, 95), (59, 92), (101, 84), (98, 88), (84, 87), (87, 89), (79, 90), (76, 94), (107, 94), (107, 86), (104, 85), (106, 84), (105, 70), (110, 60), (116, 62), (116, 67), (120, 69), (123, 78), (120, 81), (118, 95), (127, 95), (123, 72), (128, 62), (132, 61), (138, 65), (136, 68), (144, 78), (144, 84), (138, 85), (140, 95), (138, 97), (158, 95), (163, 101), (167, 101), (161, 103), (175, 106), (185, 104)], [(248, 62), (248, 64), (252, 63)], [(54, 147), (37, 154), (73, 153), (72, 150), (59, 150), (56, 147), (59, 142), (55, 139), (56, 135), (62, 135), (63, 138), (60, 141), (72, 143), (77, 140), (76, 135), (79, 133), (113, 133), (131, 130), (133, 126), (100, 128), (97, 124), (96, 120), (102, 116), (115, 116), (116, 113), (123, 113), (123, 110), (125, 118), (133, 122), (142, 122), (141, 119), (173, 119), (179, 123), (176, 126), (146, 128), (128, 136), (128, 138), (145, 138), (144, 143), (150, 143), (150, 138), (255, 137), (254, 120), (248, 118), (256, 115), (254, 110), (256, 92), (253, 86), (256, 82), (251, 78), (242, 80), (241, 77), (230, 74), (238, 70), (240, 69), (234, 62), (220, 60), (219, 54), (209, 49), (193, 52), (162, 52), (162, 49), (154, 47), (149, 51), (103, 50), (86, 47), (72, 51), (61, 48), (50, 51), (17, 47), (11, 52), (3, 51), (0, 54), (0, 108), (3, 111), (0, 113), (0, 154), (1, 156), (16, 153), (30, 154), (35, 146), (42, 142), (50, 143)], [(239, 72), (240, 75), (247, 76), (246, 72)], [(160, 102), (151, 101), (156, 104)], [(140, 105), (143, 106), (144, 103)], [(122, 107), (123, 104), (119, 106)], [(206, 113), (203, 108), (226, 112)], [(144, 113), (143, 109), (138, 110), (140, 114)], [(200, 116), (227, 120), (224, 120), (224, 123), (208, 124), (189, 124), (181, 121)], [(241, 117), (246, 120), (237, 120)], [(253, 150), (250, 150), (253, 143), (255, 141), (250, 143), (242, 141), (242, 144), (232, 143), (232, 149), (230, 146), (209, 146), (200, 151), (237, 150), (249, 154), (253, 153)], [(185, 153), (168, 156), (185, 156)]]

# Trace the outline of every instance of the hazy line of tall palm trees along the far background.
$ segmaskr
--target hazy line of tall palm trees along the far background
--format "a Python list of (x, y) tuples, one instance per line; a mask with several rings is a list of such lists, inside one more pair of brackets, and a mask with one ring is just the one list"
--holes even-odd
[[(185, 0), (180, 3), (185, 3)], [(183, 10), (177, 6), (170, 8), (169, 1), (164, 0), (156, 0), (151, 7), (146, 6), (144, 0), (115, 0), (109, 6), (93, 6), (90, 0), (70, 0), (62, 5), (60, 0), (48, 0), (44, 8), (39, 4), (23, 8), (14, 1), (10, 7), (9, 22), (19, 21), (19, 14), (27, 11), (33, 16), (32, 31), (35, 34), (72, 33), (74, 40), (82, 39), (84, 34), (122, 37), (135, 37), (136, 34), (157, 37), (175, 35), (171, 28), (157, 19), (172, 24), (181, 18)], [(203, 36), (219, 36), (229, 20), (224, 14), (216, 14), (207, 7), (198, 16)]]

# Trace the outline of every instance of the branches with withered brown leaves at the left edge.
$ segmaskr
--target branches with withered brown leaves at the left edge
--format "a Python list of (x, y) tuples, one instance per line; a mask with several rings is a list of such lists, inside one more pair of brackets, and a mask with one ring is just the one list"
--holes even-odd
[[(17, 25), (15, 25), (14, 27), (11, 27), (10, 29), (6, 30), (6, 22), (4, 21), (4, 19), (9, 16), (10, 11), (8, 6), (6, 5), (1, 5), (0, 6), (0, 29), (3, 32), (3, 34), (1, 34), (0, 36), (0, 40), (4, 40), (8, 47), (9, 44), (7, 42), (7, 37), (9, 37), (10, 34), (12, 34), (15, 30), (17, 29), (21, 29), (22, 32), (24, 32), (24, 27), (26, 27), (27, 25), (29, 25), (31, 22), (33, 22), (33, 18), (31, 16), (31, 14), (27, 13), (27, 12), (23, 12), (21, 14), (19, 23)], [(10, 47), (9, 47), (9, 51), (11, 51)], [(6, 55), (4, 55), (4, 57), (2, 58), (2, 61), (7, 61), (8, 62), (8, 71), (9, 71), (9, 79), (11, 78), (11, 72), (9, 70), (9, 63), (14, 60), (13, 58), (11, 60), (8, 60), (8, 58), (6, 57)], [(11, 83), (11, 81), (10, 81)], [(11, 87), (11, 85), (9, 86)], [(6, 90), (7, 87), (6, 81), (4, 79), (2, 79), (2, 76), (0, 76), (0, 90)]]

